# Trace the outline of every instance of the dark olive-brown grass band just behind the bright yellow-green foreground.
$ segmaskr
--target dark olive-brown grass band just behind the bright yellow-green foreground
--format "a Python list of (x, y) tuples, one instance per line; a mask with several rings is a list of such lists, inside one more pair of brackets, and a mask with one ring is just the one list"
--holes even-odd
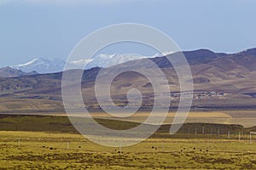
[[(79, 120), (80, 118), (78, 118)], [(104, 127), (115, 130), (131, 129), (137, 127), (139, 123), (123, 122), (108, 119), (95, 119)], [(84, 119), (84, 122), (88, 120)], [(79, 123), (84, 123), (79, 122)], [(147, 125), (148, 127), (154, 125)], [(152, 138), (170, 138), (169, 130), (171, 125), (160, 126)], [(215, 123), (185, 123), (172, 138), (213, 138), (226, 139), (226, 135), (249, 133), (254, 128), (244, 128), (236, 124), (215, 124)], [(78, 133), (69, 121), (67, 116), (21, 116), (21, 115), (0, 115), (0, 131), (35, 131), (35, 132), (60, 132)]]

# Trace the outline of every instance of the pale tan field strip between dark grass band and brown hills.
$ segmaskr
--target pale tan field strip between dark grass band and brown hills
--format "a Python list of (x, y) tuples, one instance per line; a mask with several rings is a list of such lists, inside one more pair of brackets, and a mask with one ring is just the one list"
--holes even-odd
[[(102, 112), (92, 112), (92, 116), (96, 118), (107, 118), (129, 122), (143, 122), (150, 112), (140, 111), (135, 115), (127, 118), (114, 118)], [(66, 114), (59, 114), (65, 116)], [(158, 113), (162, 116), (162, 113)], [(170, 111), (166, 117), (166, 124), (173, 122), (176, 112)], [(222, 123), (222, 124), (240, 124), (244, 127), (256, 126), (256, 111), (190, 111), (185, 121), (186, 123)]]

